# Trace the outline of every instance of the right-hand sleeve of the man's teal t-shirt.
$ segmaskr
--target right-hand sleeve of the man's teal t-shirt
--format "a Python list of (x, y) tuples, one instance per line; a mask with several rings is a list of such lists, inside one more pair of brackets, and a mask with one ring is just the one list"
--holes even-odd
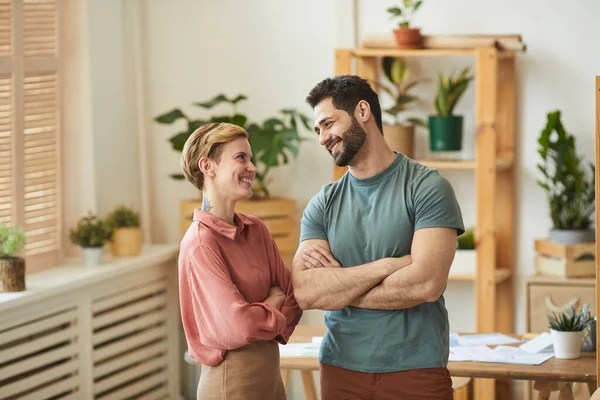
[(448, 180), (433, 171), (413, 184), (415, 231), (422, 228), (455, 228), (465, 231), (454, 189)]

